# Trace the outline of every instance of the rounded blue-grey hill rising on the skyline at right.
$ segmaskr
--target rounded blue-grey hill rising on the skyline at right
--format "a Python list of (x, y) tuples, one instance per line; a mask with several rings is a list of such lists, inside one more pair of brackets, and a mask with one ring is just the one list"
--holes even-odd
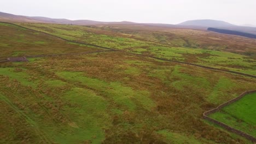
[(199, 26), (199, 27), (233, 27), (231, 23), (217, 20), (191, 20), (179, 23), (181, 26)]

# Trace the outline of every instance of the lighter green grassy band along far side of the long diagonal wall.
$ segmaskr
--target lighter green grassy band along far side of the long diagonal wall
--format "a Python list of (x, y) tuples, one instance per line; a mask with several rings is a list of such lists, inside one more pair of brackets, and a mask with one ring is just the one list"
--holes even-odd
[[(144, 39), (136, 39), (136, 37), (132, 34), (113, 32), (109, 31), (108, 29), (106, 30), (93, 27), (54, 24), (46, 25), (39, 23), (20, 23), (20, 25), (36, 29), (38, 31), (54, 34), (58, 37), (82, 41), (84, 43), (111, 47), (113, 49), (121, 49), (143, 55), (150, 55), (166, 59), (174, 59), (178, 61), (197, 63), (201, 65), (207, 65), (210, 67), (230, 69), (234, 71), (240, 71), (242, 73), (255, 75), (256, 60), (235, 53), (225, 51), (214, 51), (210, 48), (209, 50), (205, 50), (189, 48), (186, 46), (173, 47), (176, 45), (175, 41), (171, 42), (172, 45), (153, 43)], [(141, 33), (143, 33), (143, 31)], [(212, 35), (211, 37), (214, 37), (214, 35)], [(249, 46), (252, 47), (254, 46), (254, 43), (256, 43), (255, 41), (250, 41), (251, 39), (243, 40), (247, 41), (246, 44), (251, 43), (251, 45)], [(225, 44), (223, 43), (224, 41), (222, 41), (222, 43), (220, 43), (219, 45), (225, 46)], [(226, 43), (230, 43), (230, 41), (226, 40)], [(208, 47), (210, 46), (211, 45), (209, 45)], [(255, 48), (251, 49), (254, 50)], [(255, 52), (252, 51), (252, 53)]]

